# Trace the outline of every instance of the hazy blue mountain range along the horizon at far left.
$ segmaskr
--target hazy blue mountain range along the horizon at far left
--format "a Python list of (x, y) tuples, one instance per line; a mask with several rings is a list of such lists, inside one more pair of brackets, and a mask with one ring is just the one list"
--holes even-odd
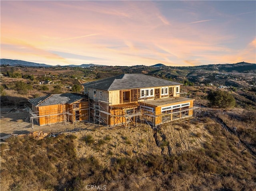
[(12, 60), (12, 59), (0, 59), (0, 65), (27, 66), (27, 67), (94, 67), (94, 66), (104, 66), (104, 65), (96, 65), (96, 64), (52, 66), (52, 65), (47, 65), (47, 64), (39, 64), (39, 63), (34, 63), (34, 62), (27, 62), (27, 61), (23, 61), (23, 60)]

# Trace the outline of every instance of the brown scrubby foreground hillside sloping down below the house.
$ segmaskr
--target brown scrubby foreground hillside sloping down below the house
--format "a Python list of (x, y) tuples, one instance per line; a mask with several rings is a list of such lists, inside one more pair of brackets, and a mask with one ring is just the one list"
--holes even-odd
[[(154, 136), (156, 135), (156, 140)], [(1, 144), (1, 191), (255, 190), (255, 156), (212, 115)]]

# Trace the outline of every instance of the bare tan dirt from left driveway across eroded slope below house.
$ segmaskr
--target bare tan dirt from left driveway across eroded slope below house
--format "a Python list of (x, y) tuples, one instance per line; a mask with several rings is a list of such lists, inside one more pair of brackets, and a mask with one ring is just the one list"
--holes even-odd
[[(106, 126), (94, 126), (94, 124), (78, 122), (77, 124), (52, 124), (51, 126), (38, 126), (30, 124), (28, 112), (20, 109), (12, 110), (11, 108), (1, 108), (0, 118), (0, 135), (1, 140), (10, 137), (12, 134), (28, 134), (34, 131), (42, 131), (46, 133), (60, 133), (74, 134), (80, 140), (85, 135), (92, 135), (95, 142), (104, 140), (104, 137), (110, 136), (111, 141), (108, 142), (108, 146), (103, 146), (99, 155), (108, 156), (108, 152), (126, 156), (128, 153), (130, 156), (136, 156), (137, 154), (146, 154), (150, 152), (153, 154), (174, 154), (182, 153), (188, 150), (194, 150), (201, 148), (207, 137), (209, 137), (207, 130), (202, 123), (192, 124), (195, 118), (189, 118), (182, 123), (189, 123), (190, 128), (188, 130), (180, 126), (180, 122), (167, 123), (161, 126), (160, 132), (158, 132), (157, 141), (154, 138), (154, 132), (151, 127), (146, 124), (138, 126), (132, 126), (131, 128), (115, 127), (113, 129)], [(201, 136), (197, 137), (196, 134), (200, 133)], [(126, 144), (127, 140), (130, 141)], [(164, 142), (168, 142), (167, 146), (162, 146)], [(78, 145), (82, 142), (78, 141)], [(162, 148), (162, 149), (161, 149)], [(96, 155), (94, 148), (88, 148), (86, 145), (77, 147), (78, 156), (90, 156)], [(101, 156), (101, 157), (102, 157)]]

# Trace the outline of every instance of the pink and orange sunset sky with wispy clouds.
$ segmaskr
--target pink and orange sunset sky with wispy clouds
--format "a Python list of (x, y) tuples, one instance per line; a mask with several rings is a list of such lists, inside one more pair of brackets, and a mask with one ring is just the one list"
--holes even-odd
[(49, 65), (256, 62), (256, 1), (3, 1), (1, 58)]

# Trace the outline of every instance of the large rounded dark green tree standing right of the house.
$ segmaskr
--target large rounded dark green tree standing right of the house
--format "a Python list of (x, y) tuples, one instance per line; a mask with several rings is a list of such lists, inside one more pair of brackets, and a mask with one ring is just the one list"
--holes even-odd
[(236, 104), (234, 96), (226, 91), (212, 91), (208, 95), (212, 107), (233, 108)]

